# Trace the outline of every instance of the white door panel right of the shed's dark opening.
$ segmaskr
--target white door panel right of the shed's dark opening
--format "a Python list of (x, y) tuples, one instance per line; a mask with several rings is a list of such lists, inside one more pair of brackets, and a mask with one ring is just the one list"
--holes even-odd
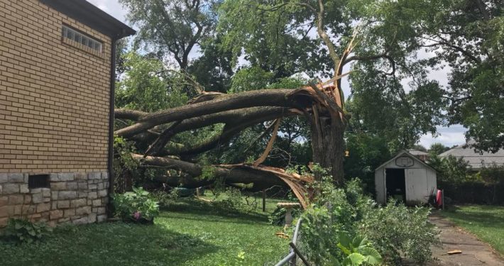
[(406, 169), (406, 202), (427, 202), (427, 172), (424, 168)]

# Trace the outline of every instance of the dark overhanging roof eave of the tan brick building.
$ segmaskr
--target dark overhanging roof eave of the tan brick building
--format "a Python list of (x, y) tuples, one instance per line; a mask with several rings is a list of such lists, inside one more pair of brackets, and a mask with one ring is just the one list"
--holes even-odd
[(40, 0), (40, 2), (113, 39), (136, 33), (126, 24), (86, 0)]

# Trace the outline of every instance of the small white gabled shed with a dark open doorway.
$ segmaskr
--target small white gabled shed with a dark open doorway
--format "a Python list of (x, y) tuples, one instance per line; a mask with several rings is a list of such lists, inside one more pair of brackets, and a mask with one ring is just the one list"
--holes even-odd
[(402, 151), (375, 170), (376, 201), (389, 198), (408, 205), (424, 204), (437, 192), (436, 170), (422, 160)]

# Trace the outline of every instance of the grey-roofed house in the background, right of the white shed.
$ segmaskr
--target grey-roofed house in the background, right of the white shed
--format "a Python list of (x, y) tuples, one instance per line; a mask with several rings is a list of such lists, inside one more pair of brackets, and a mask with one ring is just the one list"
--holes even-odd
[(498, 150), (497, 153), (484, 152), (480, 154), (468, 146), (471, 144), (473, 144), (473, 142), (458, 145), (455, 148), (451, 148), (450, 150), (440, 154), (439, 157), (446, 158), (450, 155), (456, 157), (457, 159), (464, 157), (464, 160), (466, 160), (469, 163), (469, 166), (471, 166), (471, 170), (474, 171), (478, 171), (484, 166), (488, 167), (494, 164), (498, 166), (504, 165), (504, 150)]

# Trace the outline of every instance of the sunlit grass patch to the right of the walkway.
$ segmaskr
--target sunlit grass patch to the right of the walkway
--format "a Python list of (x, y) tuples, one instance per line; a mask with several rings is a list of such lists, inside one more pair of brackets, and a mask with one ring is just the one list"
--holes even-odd
[(442, 214), (504, 255), (504, 206), (456, 206)]

